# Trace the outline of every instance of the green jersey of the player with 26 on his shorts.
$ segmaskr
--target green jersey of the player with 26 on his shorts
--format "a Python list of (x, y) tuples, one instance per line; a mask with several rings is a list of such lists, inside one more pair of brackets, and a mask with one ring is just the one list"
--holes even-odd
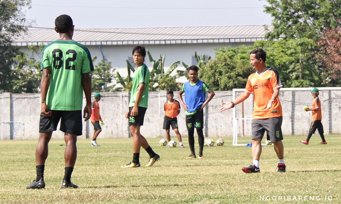
[(138, 91), (138, 85), (140, 83), (145, 83), (146, 84), (145, 90), (143, 91), (142, 98), (138, 106), (148, 108), (149, 76), (150, 76), (149, 69), (145, 64), (135, 69), (135, 72), (133, 75), (133, 84), (131, 87), (129, 107), (133, 107), (135, 104), (137, 91)]

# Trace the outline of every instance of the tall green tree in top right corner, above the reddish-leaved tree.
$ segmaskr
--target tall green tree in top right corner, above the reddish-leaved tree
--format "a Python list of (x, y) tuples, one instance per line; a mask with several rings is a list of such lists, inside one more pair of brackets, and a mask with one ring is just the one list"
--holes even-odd
[(306, 37), (317, 41), (326, 28), (340, 25), (340, 0), (266, 0), (264, 12), (273, 17), (270, 39)]

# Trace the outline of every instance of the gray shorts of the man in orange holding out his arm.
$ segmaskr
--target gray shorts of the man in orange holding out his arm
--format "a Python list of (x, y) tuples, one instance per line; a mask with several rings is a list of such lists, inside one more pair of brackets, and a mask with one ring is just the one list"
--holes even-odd
[(282, 117), (270, 117), (267, 119), (252, 119), (252, 139), (263, 139), (265, 131), (269, 134), (271, 142), (283, 140)]

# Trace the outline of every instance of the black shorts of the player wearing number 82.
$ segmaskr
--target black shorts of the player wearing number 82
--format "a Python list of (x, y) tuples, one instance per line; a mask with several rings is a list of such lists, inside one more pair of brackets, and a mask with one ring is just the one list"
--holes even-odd
[(40, 114), (39, 132), (51, 132), (57, 130), (60, 120), (60, 130), (73, 134), (82, 135), (82, 111), (81, 110), (51, 110), (50, 117)]

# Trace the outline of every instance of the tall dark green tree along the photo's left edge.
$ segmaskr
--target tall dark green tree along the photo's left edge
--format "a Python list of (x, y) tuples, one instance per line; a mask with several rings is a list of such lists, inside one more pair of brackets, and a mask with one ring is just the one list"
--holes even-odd
[(13, 46), (13, 38), (27, 30), (24, 6), (30, 6), (30, 0), (0, 1), (0, 93), (13, 91), (13, 58), (19, 54), (19, 47)]

